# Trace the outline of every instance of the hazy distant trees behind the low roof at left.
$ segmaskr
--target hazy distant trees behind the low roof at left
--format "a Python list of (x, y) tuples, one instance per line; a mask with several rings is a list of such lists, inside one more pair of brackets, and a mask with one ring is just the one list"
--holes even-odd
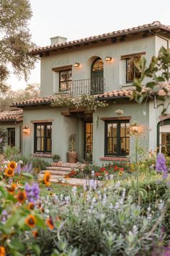
[(9, 90), (4, 93), (0, 98), (0, 110), (11, 110), (10, 106), (15, 101), (25, 101), (33, 97), (40, 96), (40, 85), (39, 84), (29, 84), (26, 88), (20, 90)]

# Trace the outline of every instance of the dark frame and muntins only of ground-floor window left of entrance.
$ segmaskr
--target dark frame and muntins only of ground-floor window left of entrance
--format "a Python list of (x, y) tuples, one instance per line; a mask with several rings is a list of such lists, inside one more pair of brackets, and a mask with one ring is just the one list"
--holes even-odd
[[(47, 127), (50, 125), (51, 136), (47, 136)], [(37, 126), (44, 127), (44, 136), (37, 136)], [(43, 150), (37, 150), (37, 138), (43, 138)], [(47, 149), (47, 139), (50, 138), (50, 150)], [(35, 134), (34, 134), (34, 153), (51, 153), (52, 152), (52, 123), (35, 123)]]

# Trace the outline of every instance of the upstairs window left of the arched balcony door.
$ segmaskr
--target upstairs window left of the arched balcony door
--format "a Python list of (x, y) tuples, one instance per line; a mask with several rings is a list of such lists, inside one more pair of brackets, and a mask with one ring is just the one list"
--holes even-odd
[(61, 91), (70, 90), (72, 82), (72, 70), (64, 70), (59, 73), (59, 88)]

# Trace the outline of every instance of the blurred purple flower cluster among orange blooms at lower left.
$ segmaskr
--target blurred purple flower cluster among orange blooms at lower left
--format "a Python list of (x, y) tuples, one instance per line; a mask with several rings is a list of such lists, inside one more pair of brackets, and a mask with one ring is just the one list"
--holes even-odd
[(30, 186), (30, 184), (26, 183), (24, 185), (24, 189), (26, 191), (27, 199), (29, 200), (29, 202), (35, 203), (39, 199), (40, 188), (37, 183), (32, 184), (32, 186)]

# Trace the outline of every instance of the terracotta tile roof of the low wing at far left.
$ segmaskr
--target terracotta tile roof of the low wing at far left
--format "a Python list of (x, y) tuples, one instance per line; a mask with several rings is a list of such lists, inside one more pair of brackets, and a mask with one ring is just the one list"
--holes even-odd
[(2, 111), (0, 112), (0, 121), (22, 121), (23, 119), (23, 110), (15, 110), (15, 111)]

